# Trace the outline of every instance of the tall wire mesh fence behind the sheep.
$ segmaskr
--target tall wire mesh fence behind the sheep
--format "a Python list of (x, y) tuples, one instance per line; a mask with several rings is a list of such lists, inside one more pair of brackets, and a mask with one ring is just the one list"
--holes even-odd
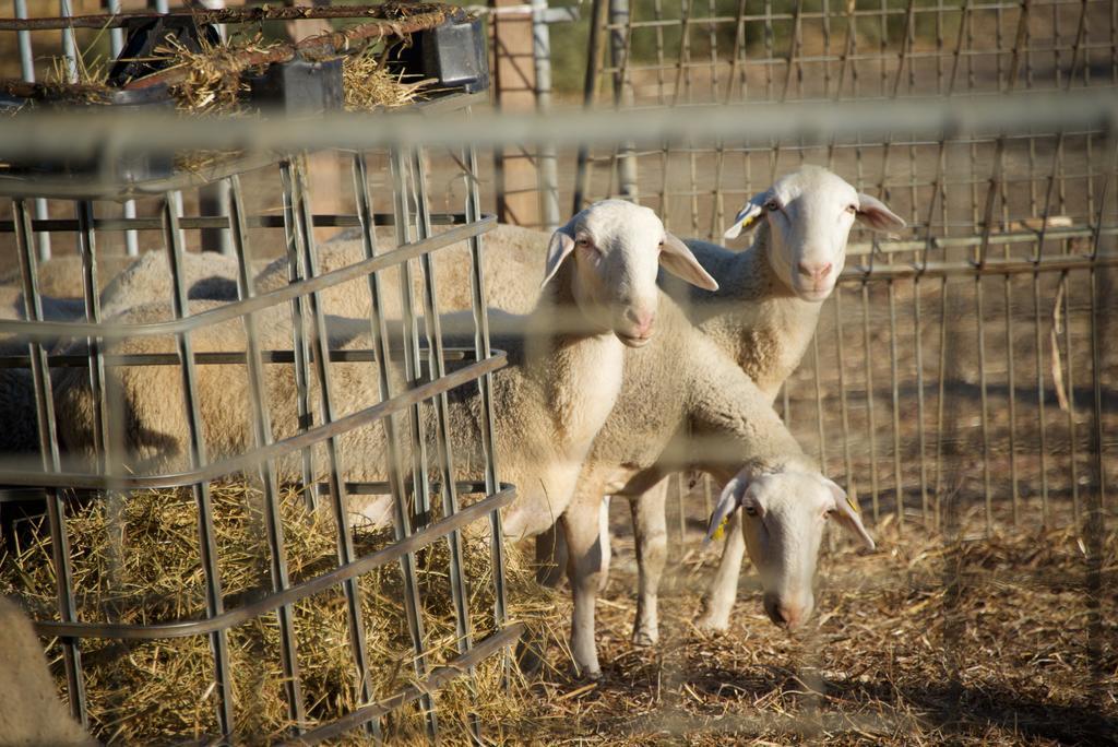
[[(1110, 2), (596, 8), (594, 105), (1110, 96), (1118, 81)], [(1102, 457), (1114, 361), (1101, 343), (1112, 271), (1098, 259), (1115, 223), (1108, 133), (618, 143), (586, 153), (576, 199), (638, 199), (673, 230), (716, 238), (804, 162), (885, 199), (911, 229), (852, 237), (843, 282), (779, 398), (797, 436), (875, 520), (935, 523), (946, 503), (978, 501), (992, 529), (1002, 504), (1012, 521), (1076, 523), (1087, 495), (1101, 507), (1114, 480)], [(1068, 511), (1054, 518), (1055, 507)]]

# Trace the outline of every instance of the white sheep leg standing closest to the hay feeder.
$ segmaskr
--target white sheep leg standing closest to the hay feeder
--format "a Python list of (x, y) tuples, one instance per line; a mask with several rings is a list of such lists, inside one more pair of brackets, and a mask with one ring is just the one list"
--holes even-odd
[(578, 672), (588, 678), (601, 675), (594, 627), (594, 607), (601, 573), (600, 497), (600, 492), (593, 491), (576, 495), (560, 519), (567, 536), (567, 577), (575, 598), (570, 651)]

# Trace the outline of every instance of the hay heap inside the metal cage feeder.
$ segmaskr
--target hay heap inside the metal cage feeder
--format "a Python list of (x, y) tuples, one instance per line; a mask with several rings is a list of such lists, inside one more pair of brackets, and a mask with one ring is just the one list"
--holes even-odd
[[(324, 511), (307, 514), (301, 500), (285, 491), (282, 502), (293, 583), (337, 565), (332, 520)], [(216, 484), (212, 501), (222, 590), (226, 607), (233, 608), (271, 588), (262, 495), (245, 483)], [(119, 518), (111, 520), (114, 511)], [(93, 502), (74, 511), (67, 528), (78, 618), (140, 624), (201, 616), (205, 581), (196, 522), (195, 503), (183, 490), (138, 492), (116, 507)], [(354, 536), (359, 554), (390, 541), (390, 532), (381, 530)], [(489, 545), (480, 539), (465, 545), (472, 625), (475, 639), (481, 639), (493, 628)], [(30, 520), (20, 531), (20, 546), (7, 550), (0, 561), (0, 593), (18, 595), (39, 618), (54, 618), (55, 577), (45, 519)], [(417, 555), (430, 665), (456, 654), (448, 556), (445, 541)], [(550, 595), (534, 584), (519, 555), (510, 552), (509, 558), (513, 616), (553, 625)], [(399, 565), (363, 576), (360, 585), (371, 681), (380, 699), (415, 679)], [(357, 708), (361, 703), (341, 589), (296, 604), (294, 620), (307, 716), (326, 721)], [(205, 636), (139, 643), (92, 640), (82, 647), (91, 727), (97, 738), (133, 744), (216, 732)], [(260, 741), (278, 737), (288, 721), (275, 614), (231, 630), (229, 649), (237, 732)], [(56, 645), (53, 652), (60, 675)], [(435, 696), (440, 728), (452, 739), (465, 737), (470, 715), (486, 722), (505, 718), (512, 707), (500, 687), (499, 661), (480, 666), (476, 681), (476, 698), (465, 679)], [(394, 739), (419, 738), (424, 720), (417, 708), (406, 708), (389, 718), (386, 729)]]

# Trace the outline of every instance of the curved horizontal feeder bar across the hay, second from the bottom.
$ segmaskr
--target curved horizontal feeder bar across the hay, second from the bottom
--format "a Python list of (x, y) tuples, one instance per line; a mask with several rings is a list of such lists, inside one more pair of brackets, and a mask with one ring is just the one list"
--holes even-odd
[(453, 517), (439, 519), (425, 529), (401, 539), (388, 547), (362, 556), (352, 562), (339, 566), (333, 570), (315, 576), (288, 587), (283, 592), (246, 604), (236, 609), (228, 609), (207, 620), (178, 620), (171, 623), (148, 623), (144, 625), (121, 625), (111, 623), (61, 623), (58, 621), (38, 621), (35, 630), (39, 635), (72, 639), (117, 639), (121, 641), (152, 641), (157, 639), (182, 639), (191, 635), (206, 635), (216, 631), (226, 631), (274, 612), (278, 607), (294, 604), (300, 599), (325, 592), (351, 578), (357, 578), (375, 568), (399, 560), (408, 552), (421, 550), (438, 541), (456, 529), (462, 529), (472, 521), (485, 518), (491, 511), (500, 510), (511, 503), (517, 497), (515, 485), (502, 484), (496, 493), (467, 505)]

